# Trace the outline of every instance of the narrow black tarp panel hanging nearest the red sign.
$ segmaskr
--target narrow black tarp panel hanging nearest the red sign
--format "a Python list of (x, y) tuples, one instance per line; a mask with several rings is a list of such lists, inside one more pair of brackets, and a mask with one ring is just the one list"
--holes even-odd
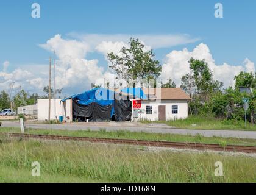
[(132, 102), (129, 100), (115, 100), (115, 120), (130, 121), (132, 117)]

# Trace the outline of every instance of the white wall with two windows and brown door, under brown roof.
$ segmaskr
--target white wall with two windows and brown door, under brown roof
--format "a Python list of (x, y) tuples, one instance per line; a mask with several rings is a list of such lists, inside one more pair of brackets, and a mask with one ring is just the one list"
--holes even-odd
[[(152, 106), (152, 114), (146, 114), (146, 106)], [(166, 106), (166, 121), (174, 120), (174, 119), (184, 119), (188, 117), (188, 101), (187, 100), (162, 100), (161, 102), (158, 101), (150, 101), (144, 100), (141, 101), (141, 110), (143, 112), (138, 114), (138, 119), (146, 119), (149, 121), (158, 121), (158, 108), (159, 105)], [(172, 114), (172, 105), (178, 106), (178, 113)], [(132, 116), (133, 119), (133, 116)], [(138, 121), (138, 119), (134, 119)]]

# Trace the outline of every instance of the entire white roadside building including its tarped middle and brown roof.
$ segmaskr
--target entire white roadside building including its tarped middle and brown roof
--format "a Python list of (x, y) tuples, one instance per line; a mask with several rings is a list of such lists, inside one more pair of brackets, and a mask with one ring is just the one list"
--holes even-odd
[[(190, 99), (180, 88), (94, 88), (65, 99), (51, 99), (51, 119), (60, 116), (66, 122), (185, 119)], [(48, 99), (38, 99), (38, 120), (48, 120), (48, 106)]]

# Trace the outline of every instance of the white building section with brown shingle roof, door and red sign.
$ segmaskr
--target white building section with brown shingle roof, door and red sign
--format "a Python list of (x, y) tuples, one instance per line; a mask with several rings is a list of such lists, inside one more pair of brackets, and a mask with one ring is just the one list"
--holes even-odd
[(180, 88), (143, 88), (143, 91), (148, 99), (132, 101), (133, 121), (169, 121), (188, 117), (191, 98)]

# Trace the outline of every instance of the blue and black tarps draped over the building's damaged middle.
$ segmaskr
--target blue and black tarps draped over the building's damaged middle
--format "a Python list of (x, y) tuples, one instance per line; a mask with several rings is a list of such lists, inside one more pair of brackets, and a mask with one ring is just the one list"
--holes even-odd
[[(126, 96), (120, 98), (122, 93)], [(115, 94), (118, 98), (115, 97)], [(145, 98), (143, 91), (125, 88), (117, 92), (106, 88), (94, 88), (82, 94), (75, 94), (66, 99), (72, 99), (73, 121), (130, 121), (132, 102), (129, 96)], [(62, 101), (66, 101), (62, 99)]]

